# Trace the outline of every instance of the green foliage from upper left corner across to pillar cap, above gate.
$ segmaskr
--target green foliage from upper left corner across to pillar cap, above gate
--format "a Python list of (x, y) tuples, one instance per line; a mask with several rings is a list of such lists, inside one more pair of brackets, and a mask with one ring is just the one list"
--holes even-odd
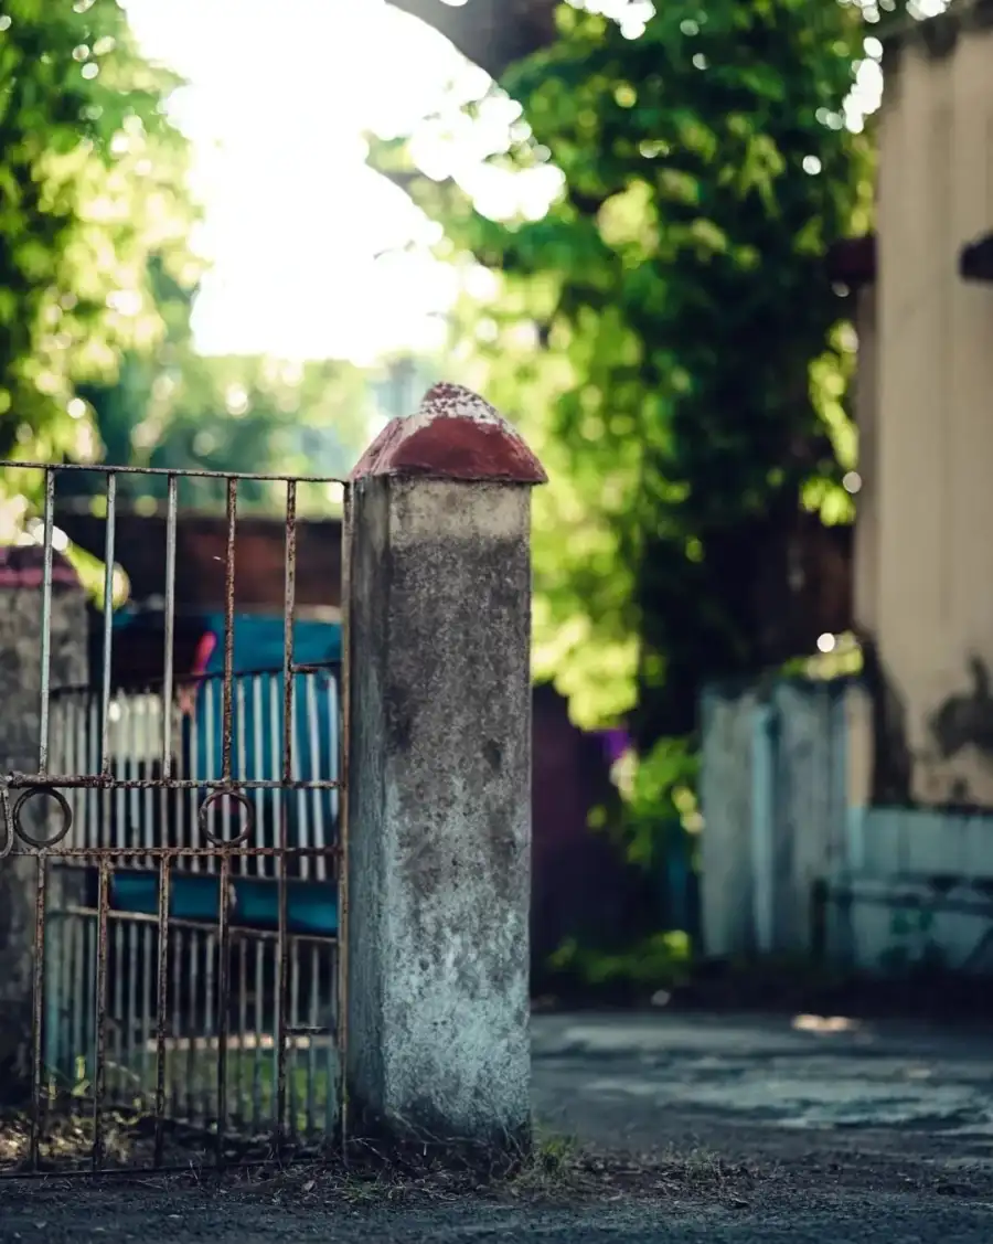
[[(344, 473), (367, 438), (357, 368), (194, 348), (204, 264), (189, 249), (190, 146), (167, 117), (179, 85), (142, 57), (117, 0), (0, 0), (0, 457)], [(11, 516), (39, 483), (4, 481)], [(119, 490), (160, 499), (164, 481)], [(219, 496), (205, 483), (180, 500)], [(260, 485), (244, 503), (282, 500)]]

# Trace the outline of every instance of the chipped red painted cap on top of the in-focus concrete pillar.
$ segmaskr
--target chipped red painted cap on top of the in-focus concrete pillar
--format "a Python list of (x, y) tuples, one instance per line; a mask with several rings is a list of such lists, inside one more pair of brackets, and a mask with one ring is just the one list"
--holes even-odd
[(349, 479), (372, 475), (546, 484), (544, 468), (500, 412), (460, 384), (435, 384), (416, 414), (391, 419)]

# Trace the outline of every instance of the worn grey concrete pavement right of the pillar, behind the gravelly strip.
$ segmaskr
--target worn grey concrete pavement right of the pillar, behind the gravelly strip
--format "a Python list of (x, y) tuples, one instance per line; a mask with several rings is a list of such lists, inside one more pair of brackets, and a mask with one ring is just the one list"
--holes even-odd
[(817, 1016), (539, 1016), (539, 1116), (602, 1143), (696, 1138), (721, 1152), (810, 1146), (993, 1158), (993, 1040), (982, 1029)]

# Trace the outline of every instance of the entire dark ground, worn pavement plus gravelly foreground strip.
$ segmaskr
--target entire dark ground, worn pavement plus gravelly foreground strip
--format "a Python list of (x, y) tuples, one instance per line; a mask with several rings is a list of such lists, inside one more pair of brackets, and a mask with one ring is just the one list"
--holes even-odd
[(534, 1092), (547, 1128), (633, 1157), (471, 1198), (306, 1176), (6, 1186), (0, 1244), (993, 1240), (993, 1034), (543, 1016)]

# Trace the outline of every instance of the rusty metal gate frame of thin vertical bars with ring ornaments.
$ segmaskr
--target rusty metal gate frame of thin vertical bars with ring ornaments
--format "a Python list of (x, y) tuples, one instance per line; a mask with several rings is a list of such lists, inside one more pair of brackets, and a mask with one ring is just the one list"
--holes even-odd
[[(282, 474), (247, 474), (206, 470), (168, 470), (154, 468), (123, 466), (80, 466), (52, 465), (45, 463), (0, 463), (5, 470), (34, 470), (43, 473), (43, 572), (41, 606), (41, 704), (40, 704), (40, 743), (36, 773), (10, 773), (0, 775), (0, 866), (7, 857), (34, 858), (36, 862), (35, 928), (34, 928), (34, 989), (31, 1021), (31, 1105), (30, 1120), (26, 1122), (26, 1143), (22, 1161), (14, 1169), (0, 1171), (4, 1174), (40, 1174), (55, 1169), (52, 1154), (48, 1152), (47, 1128), (55, 1121), (55, 1091), (52, 1069), (46, 1066), (46, 935), (52, 912), (48, 902), (50, 866), (55, 861), (76, 862), (77, 866), (96, 867), (98, 876), (96, 923), (96, 1015), (94, 1015), (94, 1060), (92, 1093), (89, 1095), (89, 1123), (92, 1126), (92, 1144), (88, 1154), (76, 1152), (75, 1162), (60, 1173), (97, 1173), (106, 1169), (134, 1167), (126, 1157), (122, 1161), (108, 1161), (107, 1152), (107, 1006), (108, 1006), (108, 926), (111, 923), (111, 880), (114, 870), (129, 862), (154, 861), (158, 871), (158, 916), (155, 918), (155, 1049), (154, 1049), (154, 1112), (150, 1120), (152, 1143), (150, 1161), (142, 1163), (140, 1169), (169, 1169), (167, 1162), (167, 1127), (170, 1122), (167, 1110), (167, 1040), (168, 1040), (168, 990), (170, 980), (169, 934), (172, 928), (170, 889), (176, 868), (184, 861), (210, 860), (216, 863), (219, 875), (219, 913), (216, 940), (219, 947), (219, 980), (216, 1006), (216, 1111), (213, 1132), (214, 1162), (222, 1167), (229, 1161), (227, 1133), (227, 1084), (229, 1084), (229, 999), (231, 995), (231, 866), (236, 858), (275, 857), (276, 880), (278, 886), (278, 929), (276, 932), (276, 1126), (268, 1138), (268, 1153), (292, 1157), (300, 1152), (296, 1144), (295, 1122), (287, 1120), (287, 1050), (288, 1042), (302, 1035), (288, 1023), (287, 985), (290, 933), (287, 929), (287, 866), (295, 858), (323, 855), (332, 867), (338, 883), (338, 933), (337, 933), (337, 1023), (329, 1033), (337, 1045), (339, 1066), (343, 1069), (347, 1054), (348, 975), (348, 744), (349, 744), (349, 690), (348, 690), (348, 596), (349, 596), (349, 544), (350, 544), (350, 494), (345, 480), (333, 476), (295, 476)], [(51, 731), (51, 623), (52, 623), (52, 562), (55, 531), (55, 494), (56, 478), (72, 471), (99, 474), (106, 479), (106, 540), (104, 540), (104, 581), (103, 581), (103, 661), (101, 672), (101, 746), (97, 773), (52, 773), (50, 770), (50, 731)], [(114, 586), (114, 531), (117, 513), (117, 480), (119, 475), (157, 475), (167, 481), (167, 524), (165, 524), (165, 602), (164, 602), (164, 679), (162, 687), (162, 778), (122, 778), (111, 769), (108, 749), (109, 707), (112, 697), (112, 613)], [(173, 713), (175, 695), (174, 668), (174, 626), (175, 626), (175, 562), (176, 562), (176, 521), (179, 480), (216, 479), (226, 485), (226, 567), (225, 567), (225, 627), (224, 627), (224, 674), (221, 690), (221, 774), (216, 779), (178, 778), (174, 773), (173, 753)], [(282, 773), (276, 779), (239, 776), (232, 758), (232, 687), (234, 687), (234, 613), (235, 613), (235, 539), (237, 531), (237, 494), (242, 480), (285, 484), (286, 489), (286, 565), (283, 595), (283, 662), (282, 662)], [(339, 680), (339, 759), (336, 780), (303, 780), (293, 778), (293, 699), (296, 675), (308, 673), (313, 667), (297, 666), (293, 661), (293, 622), (296, 615), (296, 527), (297, 527), (297, 486), (300, 484), (337, 484), (343, 489), (342, 524), (342, 664)], [(78, 768), (78, 765), (77, 765)], [(172, 846), (157, 842), (134, 846), (75, 846), (71, 832), (73, 827), (73, 809), (66, 791), (97, 791), (106, 809), (114, 791), (143, 790), (152, 791), (152, 799), (159, 797), (165, 806), (165, 792), (199, 791), (205, 796), (199, 802), (200, 843), (195, 846)], [(272, 847), (254, 843), (255, 806), (246, 791), (275, 790), (277, 792), (278, 841)], [(298, 790), (337, 790), (338, 826), (337, 842), (331, 847), (307, 847), (291, 845), (287, 831), (287, 796)], [(158, 792), (158, 796), (155, 795)], [(190, 796), (191, 799), (195, 796)], [(32, 832), (25, 824), (25, 812), (35, 800), (50, 801), (55, 805), (55, 817), (51, 809), (45, 816), (45, 831)], [(225, 837), (216, 832), (217, 814), (225, 810), (230, 819), (231, 810), (240, 811), (237, 832)], [(35, 814), (37, 812), (37, 806)], [(106, 814), (104, 814), (106, 815)], [(163, 816), (163, 824), (165, 819)], [(57, 887), (56, 887), (57, 888)], [(316, 1030), (311, 1030), (313, 1035)], [(347, 1095), (344, 1075), (338, 1076), (338, 1118), (334, 1137), (343, 1144), (347, 1136)], [(78, 1116), (77, 1116), (78, 1117)], [(145, 1128), (145, 1132), (148, 1128)], [(87, 1137), (88, 1138), (88, 1137)], [(328, 1140), (329, 1137), (326, 1137)], [(88, 1157), (86, 1166), (81, 1157)], [(189, 1168), (189, 1158), (180, 1164)]]

